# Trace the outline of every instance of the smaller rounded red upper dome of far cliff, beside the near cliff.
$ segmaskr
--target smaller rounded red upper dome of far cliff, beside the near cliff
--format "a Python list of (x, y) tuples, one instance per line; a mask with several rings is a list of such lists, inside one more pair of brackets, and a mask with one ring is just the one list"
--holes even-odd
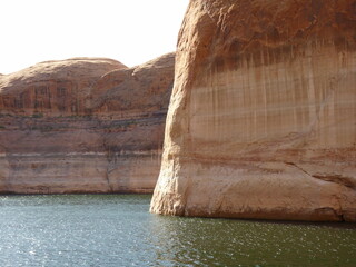
[(174, 57), (174, 53), (168, 53), (131, 69), (106, 73), (90, 93), (91, 108), (96, 113), (160, 112), (162, 109), (166, 112), (166, 100), (171, 92), (167, 88), (172, 87)]

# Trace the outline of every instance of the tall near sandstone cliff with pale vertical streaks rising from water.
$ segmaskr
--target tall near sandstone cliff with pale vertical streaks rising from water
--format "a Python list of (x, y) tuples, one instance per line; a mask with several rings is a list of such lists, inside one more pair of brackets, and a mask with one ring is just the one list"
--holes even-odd
[(190, 1), (151, 211), (356, 220), (356, 1)]

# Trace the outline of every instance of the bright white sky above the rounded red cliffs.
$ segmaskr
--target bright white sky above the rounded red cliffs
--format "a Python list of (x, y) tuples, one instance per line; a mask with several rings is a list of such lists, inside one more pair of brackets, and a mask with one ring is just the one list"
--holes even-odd
[(106, 57), (132, 67), (175, 51), (189, 0), (0, 0), (0, 73)]

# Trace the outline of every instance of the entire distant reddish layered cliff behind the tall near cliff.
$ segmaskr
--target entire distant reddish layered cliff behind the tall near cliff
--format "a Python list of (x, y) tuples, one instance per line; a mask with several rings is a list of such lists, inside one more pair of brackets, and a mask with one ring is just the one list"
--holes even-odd
[(174, 65), (70, 59), (0, 77), (0, 192), (151, 192)]

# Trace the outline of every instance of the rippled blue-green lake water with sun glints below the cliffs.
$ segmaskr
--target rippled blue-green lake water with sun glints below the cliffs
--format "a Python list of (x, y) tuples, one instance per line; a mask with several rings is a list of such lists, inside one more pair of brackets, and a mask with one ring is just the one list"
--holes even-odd
[(356, 228), (176, 218), (150, 196), (0, 196), (0, 266), (356, 266)]

